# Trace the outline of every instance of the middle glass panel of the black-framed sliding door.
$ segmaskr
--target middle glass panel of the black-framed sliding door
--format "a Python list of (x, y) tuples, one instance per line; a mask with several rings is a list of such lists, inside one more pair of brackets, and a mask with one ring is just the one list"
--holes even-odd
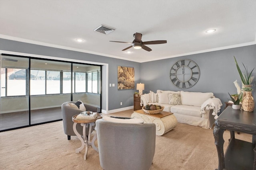
[[(61, 61), (30, 60), (32, 125), (62, 119), (61, 105), (71, 100), (71, 65), (72, 63)], [(66, 94), (63, 94), (63, 91)]]

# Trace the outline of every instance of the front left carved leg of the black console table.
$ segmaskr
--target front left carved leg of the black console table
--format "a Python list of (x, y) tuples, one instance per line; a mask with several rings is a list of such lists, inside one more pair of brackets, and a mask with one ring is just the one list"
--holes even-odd
[(220, 127), (214, 127), (213, 129), (213, 135), (215, 139), (215, 145), (217, 148), (218, 152), (218, 160), (219, 160), (219, 166), (218, 170), (223, 170), (225, 168), (224, 164), (224, 151), (223, 151), (223, 144), (224, 144), (224, 139), (223, 139), (223, 133), (225, 129), (222, 129)]

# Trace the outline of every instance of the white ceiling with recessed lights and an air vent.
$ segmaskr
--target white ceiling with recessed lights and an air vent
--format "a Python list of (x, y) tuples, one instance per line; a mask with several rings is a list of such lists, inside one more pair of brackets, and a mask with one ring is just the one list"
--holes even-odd
[[(101, 24), (115, 31), (95, 32)], [(128, 54), (109, 42), (136, 32), (167, 43)], [(141, 63), (256, 44), (256, 0), (0, 0), (0, 38)]]

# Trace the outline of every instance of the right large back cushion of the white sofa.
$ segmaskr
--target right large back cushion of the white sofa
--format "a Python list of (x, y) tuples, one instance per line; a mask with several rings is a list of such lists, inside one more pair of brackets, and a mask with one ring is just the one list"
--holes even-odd
[(201, 107), (201, 105), (209, 98), (213, 98), (213, 93), (180, 91), (182, 105)]

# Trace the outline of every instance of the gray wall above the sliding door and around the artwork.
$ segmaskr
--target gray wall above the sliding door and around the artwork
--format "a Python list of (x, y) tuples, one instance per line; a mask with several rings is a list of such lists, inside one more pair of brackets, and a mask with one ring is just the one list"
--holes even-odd
[[(115, 87), (108, 87), (108, 109), (118, 109), (122, 107), (133, 106), (133, 94), (136, 89), (132, 90), (118, 90), (117, 89), (117, 69), (118, 66), (134, 67), (135, 70), (135, 84), (139, 83), (140, 79), (140, 63), (126, 61), (121, 59), (114, 59), (100, 55), (93, 55), (88, 53), (81, 53), (77, 51), (70, 51), (52, 47), (45, 47), (41, 45), (34, 45), (30, 43), (23, 43), (7, 39), (0, 39), (0, 50), (13, 51), (19, 53), (29, 53), (35, 55), (44, 55), (50, 57), (60, 57), (66, 59), (76, 59), (81, 61), (92, 61), (98, 63), (108, 63), (108, 84), (115, 84)], [(102, 70), (102, 75), (105, 75), (106, 70)], [(102, 80), (106, 78), (102, 77)], [(102, 84), (102, 89), (106, 89), (105, 84)], [(106, 92), (102, 91), (102, 109), (106, 109), (104, 96)], [(122, 102), (122, 106), (120, 106)]]

